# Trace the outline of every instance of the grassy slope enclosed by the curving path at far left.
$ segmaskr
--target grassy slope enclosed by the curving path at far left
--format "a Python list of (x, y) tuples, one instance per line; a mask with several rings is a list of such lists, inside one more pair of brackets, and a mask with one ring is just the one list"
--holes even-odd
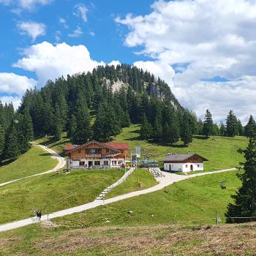
[(42, 173), (52, 169), (56, 164), (57, 160), (51, 158), (50, 154), (42, 148), (32, 146), (14, 162), (0, 167), (0, 183)]

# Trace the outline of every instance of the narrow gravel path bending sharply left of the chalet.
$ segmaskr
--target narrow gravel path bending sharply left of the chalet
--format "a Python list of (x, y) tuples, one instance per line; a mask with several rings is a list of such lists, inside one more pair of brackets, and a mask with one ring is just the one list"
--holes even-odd
[(47, 171), (45, 171), (43, 173), (37, 173), (37, 174), (31, 175), (31, 176), (26, 176), (26, 177), (23, 177), (23, 178), (17, 178), (17, 179), (12, 180), (12, 181), (7, 181), (7, 182), (4, 182), (4, 183), (1, 183), (0, 187), (2, 187), (4, 185), (7, 185), (7, 184), (10, 184), (10, 183), (15, 182), (15, 181), (22, 181), (25, 178), (31, 178), (31, 177), (35, 177), (35, 176), (40, 176), (40, 175), (47, 174), (47, 173), (54, 173), (54, 172), (56, 172), (57, 170), (60, 170), (61, 168), (63, 168), (66, 165), (66, 160), (64, 159), (64, 157), (61, 157), (59, 154), (56, 153), (56, 151), (53, 151), (52, 149), (50, 149), (50, 148), (48, 148), (46, 146), (42, 146), (42, 145), (35, 144), (35, 143), (32, 143), (32, 144), (36, 145), (36, 146), (39, 146), (40, 148), (42, 148), (45, 151), (47, 151), (48, 153), (50, 153), (53, 158), (57, 159), (58, 160), (58, 164), (56, 165), (56, 167), (54, 167), (51, 170), (47, 170)]

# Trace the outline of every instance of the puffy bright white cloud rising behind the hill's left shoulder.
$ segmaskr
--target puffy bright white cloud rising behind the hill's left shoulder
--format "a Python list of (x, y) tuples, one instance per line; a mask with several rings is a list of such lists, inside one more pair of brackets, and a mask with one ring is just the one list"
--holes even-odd
[(37, 74), (39, 86), (49, 79), (61, 75), (73, 75), (78, 72), (89, 72), (104, 62), (91, 59), (89, 50), (84, 45), (67, 45), (65, 42), (52, 45), (42, 42), (23, 50), (24, 58), (18, 60), (14, 67), (20, 67)]

